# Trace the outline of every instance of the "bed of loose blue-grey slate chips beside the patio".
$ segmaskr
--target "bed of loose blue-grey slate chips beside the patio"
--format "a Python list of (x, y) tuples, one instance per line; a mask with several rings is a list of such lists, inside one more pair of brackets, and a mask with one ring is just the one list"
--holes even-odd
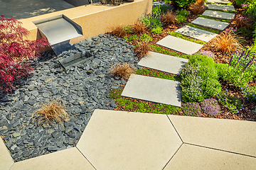
[[(18, 81), (14, 94), (0, 98), (0, 135), (14, 162), (75, 147), (95, 109), (113, 110), (111, 89), (121, 89), (126, 81), (109, 74), (115, 62), (137, 65), (133, 45), (112, 35), (98, 35), (73, 45), (73, 49), (55, 56), (44, 52), (33, 62), (35, 71)], [(94, 59), (63, 72), (58, 60), (71, 53), (89, 50)], [(70, 121), (63, 125), (31, 123), (31, 115), (41, 103), (60, 98), (67, 106)]]

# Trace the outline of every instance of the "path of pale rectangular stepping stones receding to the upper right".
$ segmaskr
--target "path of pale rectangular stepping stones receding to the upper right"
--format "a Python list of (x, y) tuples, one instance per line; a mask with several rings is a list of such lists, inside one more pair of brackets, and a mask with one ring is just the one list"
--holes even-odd
[[(213, 8), (213, 10), (235, 10), (233, 6), (215, 4), (208, 4), (208, 8)], [(206, 16), (212, 18), (234, 17), (233, 13), (217, 11), (205, 12), (205, 14)], [(195, 23), (200, 26), (206, 26), (208, 28), (215, 28), (218, 30), (224, 30), (229, 25), (229, 23), (215, 21), (214, 19), (203, 17), (198, 17), (191, 23)], [(193, 28), (191, 26), (183, 26), (182, 28), (176, 30), (176, 33), (181, 33), (182, 35), (198, 40), (203, 40), (205, 42), (212, 40), (217, 35), (206, 30)], [(171, 35), (167, 35), (165, 38), (159, 40), (159, 42), (156, 42), (156, 44), (168, 47), (171, 50), (182, 52), (186, 55), (192, 55), (198, 52), (201, 47), (203, 47), (203, 45), (200, 45), (196, 42), (183, 40)], [(149, 67), (151, 69), (157, 69), (163, 72), (178, 74), (186, 62), (184, 62), (183, 59), (178, 60), (177, 57), (171, 55), (161, 55), (156, 52), (149, 52), (149, 55), (143, 58), (139, 62), (139, 65), (143, 67)], [(122, 92), (122, 96), (181, 107), (180, 83), (173, 80), (163, 80), (135, 74), (129, 78), (127, 85), (124, 87), (124, 91)]]

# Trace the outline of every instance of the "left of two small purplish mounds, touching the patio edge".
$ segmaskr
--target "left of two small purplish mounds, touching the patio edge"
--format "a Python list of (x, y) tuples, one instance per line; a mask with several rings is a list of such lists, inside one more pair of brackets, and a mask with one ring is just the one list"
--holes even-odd
[(183, 103), (182, 104), (182, 111), (184, 115), (191, 115), (191, 116), (202, 116), (202, 109), (199, 103), (193, 102), (193, 103)]

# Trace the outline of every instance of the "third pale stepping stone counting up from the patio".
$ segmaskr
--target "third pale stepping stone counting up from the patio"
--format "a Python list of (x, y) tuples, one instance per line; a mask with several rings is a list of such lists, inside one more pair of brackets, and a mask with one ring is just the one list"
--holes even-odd
[(168, 47), (171, 50), (182, 52), (186, 55), (192, 55), (193, 53), (198, 52), (201, 47), (203, 47), (203, 45), (198, 43), (176, 38), (171, 35), (167, 35), (165, 38), (159, 40), (159, 42), (156, 42), (156, 44)]

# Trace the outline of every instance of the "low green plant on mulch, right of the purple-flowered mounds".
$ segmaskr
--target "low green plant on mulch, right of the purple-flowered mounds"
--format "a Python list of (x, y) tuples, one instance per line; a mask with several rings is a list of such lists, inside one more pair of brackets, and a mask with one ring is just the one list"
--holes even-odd
[(216, 98), (218, 99), (218, 103), (228, 108), (232, 113), (239, 113), (244, 109), (242, 107), (242, 100), (237, 96), (231, 96), (228, 89), (221, 91), (220, 94), (216, 95)]

